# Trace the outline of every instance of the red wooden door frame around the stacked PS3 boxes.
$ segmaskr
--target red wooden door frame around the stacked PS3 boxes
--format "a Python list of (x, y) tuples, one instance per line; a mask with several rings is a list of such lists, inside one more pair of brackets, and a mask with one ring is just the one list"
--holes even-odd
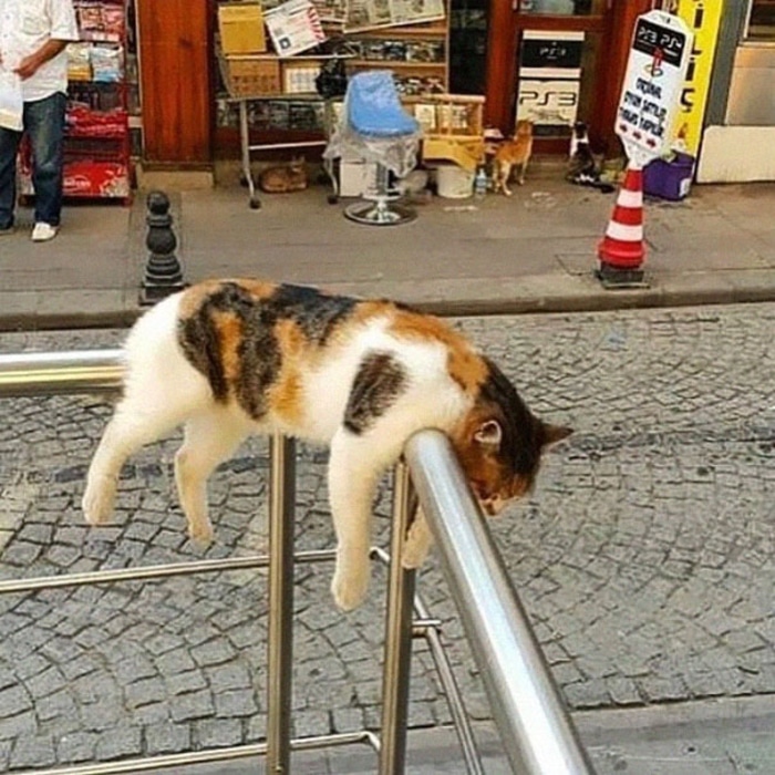
[[(485, 121), (508, 133), (514, 126), (514, 87), (517, 79), (517, 35), (519, 30), (589, 31), (602, 35), (598, 56), (606, 52), (606, 72), (598, 66), (598, 83), (589, 116), (590, 140), (609, 152), (616, 141), (613, 123), (619, 92), (624, 79), (630, 39), (636, 18), (650, 10), (652, 0), (608, 0), (604, 16), (567, 17), (517, 13), (513, 0), (492, 0), (487, 40)], [(604, 81), (601, 79), (604, 78)], [(548, 143), (551, 146), (551, 142)], [(567, 146), (566, 142), (561, 143)], [(548, 148), (547, 148), (548, 149)], [(552, 148), (554, 149), (554, 148)]]

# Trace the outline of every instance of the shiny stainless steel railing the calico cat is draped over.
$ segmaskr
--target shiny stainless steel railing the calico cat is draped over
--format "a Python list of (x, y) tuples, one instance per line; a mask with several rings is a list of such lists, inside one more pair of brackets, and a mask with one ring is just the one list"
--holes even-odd
[[(121, 350), (0, 355), (0, 397), (111, 393), (121, 384)], [(213, 751), (115, 763), (34, 771), (37, 775), (113, 775), (153, 768), (266, 755), (267, 772), (291, 772), (291, 751), (365, 743), (379, 752), (379, 775), (405, 768), (412, 638), (426, 639), (444, 686), (468, 773), (484, 771), (454, 673), (443, 648), (441, 623), (414, 592), (414, 572), (400, 558), (414, 510), (414, 492), (437, 541), (453, 597), (485, 679), (493, 713), (515, 773), (587, 775), (592, 768), (551, 680), (530, 624), (509, 582), (486, 523), (446, 437), (423, 431), (405, 446), (395, 468), (391, 551), (372, 550), (390, 567), (382, 734), (369, 731), (292, 740), (293, 564), (331, 560), (333, 551), (293, 554), (296, 447), (271, 440), (269, 552), (264, 556), (123, 568), (0, 581), (0, 595), (64, 586), (155, 579), (179, 575), (269, 568), (267, 741)]]

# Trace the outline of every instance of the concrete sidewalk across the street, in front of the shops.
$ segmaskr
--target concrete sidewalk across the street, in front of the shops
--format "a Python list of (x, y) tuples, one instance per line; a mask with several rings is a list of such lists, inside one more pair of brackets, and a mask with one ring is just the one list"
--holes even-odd
[[(538, 170), (510, 199), (442, 199), (415, 223), (360, 226), (313, 186), (170, 193), (186, 281), (260, 276), (402, 299), (441, 313), (597, 310), (775, 298), (775, 184), (695, 186), (645, 206), (648, 288), (603, 290), (596, 246), (614, 195)], [(70, 206), (60, 236), (29, 239), (31, 214), (0, 242), (0, 329), (123, 326), (138, 311), (145, 194), (133, 207)]]

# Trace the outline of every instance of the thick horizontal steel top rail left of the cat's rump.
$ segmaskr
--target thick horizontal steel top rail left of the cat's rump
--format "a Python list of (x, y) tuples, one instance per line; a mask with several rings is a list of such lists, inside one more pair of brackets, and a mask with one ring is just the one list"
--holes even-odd
[(0, 399), (112, 393), (123, 374), (121, 349), (0, 355)]

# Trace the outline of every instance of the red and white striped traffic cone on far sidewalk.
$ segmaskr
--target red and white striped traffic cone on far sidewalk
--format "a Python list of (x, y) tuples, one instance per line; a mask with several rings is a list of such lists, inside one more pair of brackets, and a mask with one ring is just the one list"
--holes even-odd
[(619, 189), (613, 215), (608, 221), (606, 235), (598, 245), (601, 279), (616, 283), (640, 282), (641, 266), (645, 258), (643, 244), (643, 169), (630, 166)]

